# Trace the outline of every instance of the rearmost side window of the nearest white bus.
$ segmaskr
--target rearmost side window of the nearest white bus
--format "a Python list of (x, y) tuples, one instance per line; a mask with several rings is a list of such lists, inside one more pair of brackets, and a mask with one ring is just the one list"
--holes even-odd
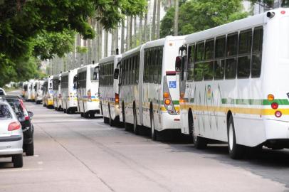
[(251, 77), (260, 78), (262, 64), (262, 48), (263, 48), (263, 26), (254, 28), (253, 32), (253, 48), (252, 48), (252, 64)]

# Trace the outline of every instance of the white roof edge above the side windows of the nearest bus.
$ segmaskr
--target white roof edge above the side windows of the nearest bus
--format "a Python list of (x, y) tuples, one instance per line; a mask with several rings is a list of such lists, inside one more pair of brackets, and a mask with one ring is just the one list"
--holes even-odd
[(192, 33), (191, 35), (186, 36), (185, 43), (194, 43), (196, 41), (202, 41), (207, 38), (212, 38), (213, 36), (222, 36), (227, 33), (233, 33), (238, 30), (250, 28), (253, 26), (260, 26), (266, 22), (264, 19), (266, 14), (259, 14), (256, 16), (249, 16), (238, 21), (233, 21), (231, 23), (226, 23), (215, 28), (209, 28), (205, 31), (200, 31)]

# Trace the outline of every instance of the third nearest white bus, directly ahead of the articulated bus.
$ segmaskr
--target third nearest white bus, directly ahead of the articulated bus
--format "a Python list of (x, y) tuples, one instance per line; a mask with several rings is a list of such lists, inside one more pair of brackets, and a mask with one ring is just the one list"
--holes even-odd
[(110, 126), (120, 122), (120, 105), (118, 97), (118, 80), (113, 78), (117, 63), (122, 55), (112, 55), (100, 60), (100, 109), (105, 123)]

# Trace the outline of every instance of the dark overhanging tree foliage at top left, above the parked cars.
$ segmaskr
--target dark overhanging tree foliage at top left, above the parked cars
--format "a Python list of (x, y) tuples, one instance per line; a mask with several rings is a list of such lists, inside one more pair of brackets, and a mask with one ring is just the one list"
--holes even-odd
[[(39, 61), (62, 57), (73, 48), (75, 33), (94, 38), (90, 18), (103, 28), (119, 25), (124, 14), (141, 15), (146, 0), (1, 0), (0, 86), (39, 75)], [(26, 73), (27, 71), (27, 73)]]

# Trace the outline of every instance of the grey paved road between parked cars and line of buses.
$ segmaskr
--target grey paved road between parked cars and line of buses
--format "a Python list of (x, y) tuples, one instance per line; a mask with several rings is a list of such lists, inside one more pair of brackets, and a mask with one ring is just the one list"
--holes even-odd
[(231, 160), (226, 145), (199, 151), (182, 142), (153, 142), (27, 103), (34, 113), (35, 156), (14, 169), (0, 159), (0, 191), (289, 191), (289, 151), (263, 149), (256, 159)]

